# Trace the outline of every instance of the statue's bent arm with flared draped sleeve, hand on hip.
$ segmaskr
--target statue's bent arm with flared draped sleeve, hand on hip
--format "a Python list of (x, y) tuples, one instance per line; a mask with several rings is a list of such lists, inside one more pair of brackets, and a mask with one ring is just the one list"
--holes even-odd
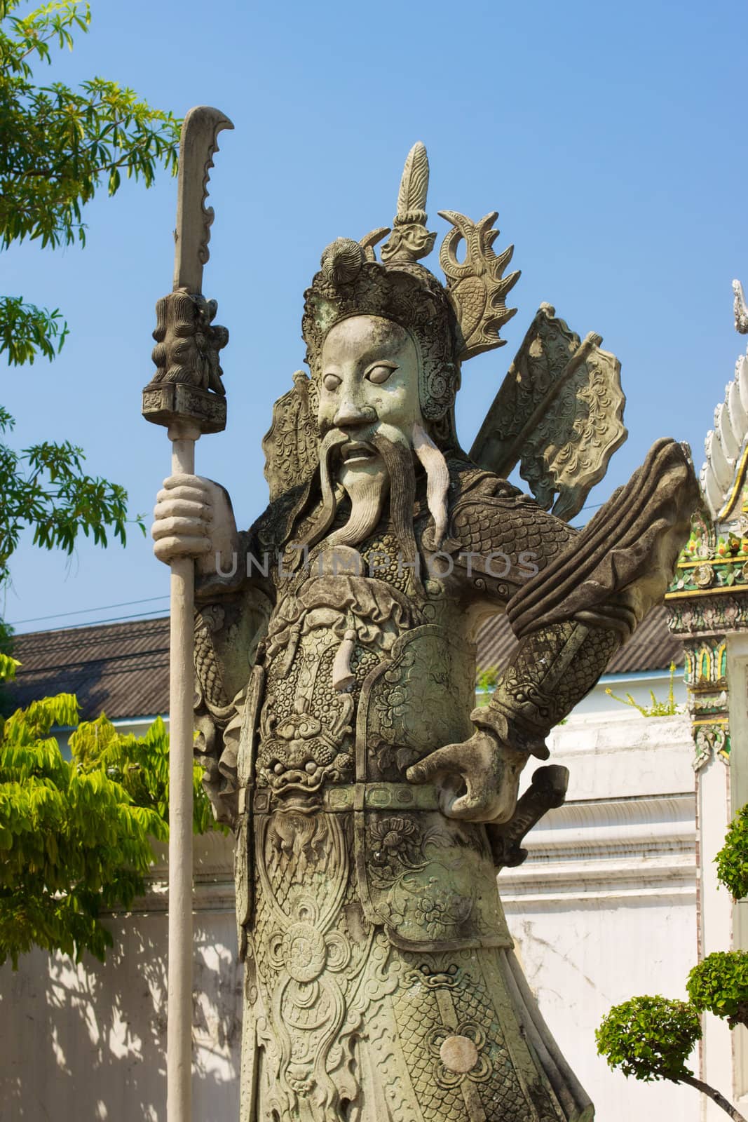
[[(539, 572), (507, 605), (519, 645), (489, 703), (471, 714), (471, 739), (437, 749), (409, 772), (415, 782), (458, 772), (462, 783), (452, 779), (450, 789), (447, 782), (442, 800), (451, 817), (501, 821), (511, 815), (527, 758), (547, 758), (553, 726), (592, 689), (664, 595), (696, 498), (683, 449), (663, 440), (580, 533), (535, 508)], [(516, 524), (527, 526), (527, 500), (519, 503), (524, 517)], [(507, 542), (507, 524), (505, 513), (490, 544), (509, 553), (515, 543)], [(489, 525), (490, 517), (483, 521)]]

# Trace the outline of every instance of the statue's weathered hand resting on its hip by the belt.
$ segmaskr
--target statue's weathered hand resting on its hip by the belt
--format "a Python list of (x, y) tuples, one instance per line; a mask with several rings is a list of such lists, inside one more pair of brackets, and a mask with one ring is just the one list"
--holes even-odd
[(469, 822), (506, 822), (517, 802), (519, 774), (527, 753), (478, 728), (469, 741), (447, 744), (413, 764), (410, 783), (440, 788), (440, 808), (447, 818)]

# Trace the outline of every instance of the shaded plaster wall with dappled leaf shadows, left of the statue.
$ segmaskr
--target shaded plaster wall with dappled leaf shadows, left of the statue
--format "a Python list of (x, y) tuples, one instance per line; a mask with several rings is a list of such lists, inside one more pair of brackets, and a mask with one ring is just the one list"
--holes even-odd
[[(236, 1122), (242, 967), (237, 959), (231, 850), (195, 839), (193, 1116)], [(2, 1122), (164, 1122), (166, 892), (113, 918), (105, 964), (34, 951), (0, 969)]]

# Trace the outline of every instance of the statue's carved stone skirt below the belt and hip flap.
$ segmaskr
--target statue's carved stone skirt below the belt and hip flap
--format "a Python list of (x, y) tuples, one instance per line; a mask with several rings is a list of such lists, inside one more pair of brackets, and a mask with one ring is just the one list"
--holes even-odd
[[(241, 1122), (590, 1122), (510, 947), (406, 950), (366, 919), (352, 818), (256, 833)], [(382, 867), (413, 864), (397, 822)]]

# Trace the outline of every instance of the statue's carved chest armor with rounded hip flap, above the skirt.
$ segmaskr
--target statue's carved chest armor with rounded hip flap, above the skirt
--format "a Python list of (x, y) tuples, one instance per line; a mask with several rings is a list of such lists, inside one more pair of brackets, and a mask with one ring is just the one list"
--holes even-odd
[[(506, 945), (484, 830), (444, 819), (432, 785), (405, 781), (415, 761), (470, 736), (474, 647), (445, 626), (454, 608), (438, 581), (425, 600), (407, 597), (391, 536), (358, 558), (334, 555), (351, 567), (360, 558), (362, 573), (375, 557), (377, 576), (318, 576), (321, 551), (281, 592), (262, 660), (256, 820), (288, 806), (355, 811), (357, 895), (369, 922), (408, 948)], [(352, 679), (344, 690), (333, 682), (341, 654)], [(258, 839), (259, 864), (262, 852)]]

